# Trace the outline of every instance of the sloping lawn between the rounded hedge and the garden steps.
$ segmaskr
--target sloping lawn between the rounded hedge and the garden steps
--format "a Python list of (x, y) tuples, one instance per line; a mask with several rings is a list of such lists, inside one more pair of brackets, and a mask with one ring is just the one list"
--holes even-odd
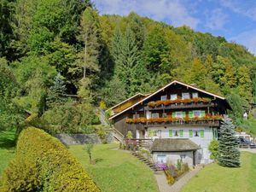
[(117, 143), (96, 145), (92, 153), (96, 165), (89, 164), (84, 145), (70, 146), (70, 151), (78, 158), (102, 191), (159, 191), (154, 174), (148, 166), (126, 151), (114, 148), (118, 148)]

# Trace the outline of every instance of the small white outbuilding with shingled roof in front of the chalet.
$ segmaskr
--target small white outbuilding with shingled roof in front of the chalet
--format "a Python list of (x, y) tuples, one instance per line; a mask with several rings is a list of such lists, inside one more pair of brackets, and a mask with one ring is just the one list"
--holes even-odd
[(177, 164), (177, 160), (188, 163), (189, 167), (196, 165), (196, 151), (201, 149), (188, 138), (155, 139), (151, 147), (155, 163)]

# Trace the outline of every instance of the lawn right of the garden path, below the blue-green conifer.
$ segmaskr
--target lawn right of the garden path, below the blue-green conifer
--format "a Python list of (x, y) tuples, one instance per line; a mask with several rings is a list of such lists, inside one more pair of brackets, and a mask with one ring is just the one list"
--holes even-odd
[(187, 183), (183, 192), (256, 191), (256, 154), (241, 153), (241, 167), (206, 166)]

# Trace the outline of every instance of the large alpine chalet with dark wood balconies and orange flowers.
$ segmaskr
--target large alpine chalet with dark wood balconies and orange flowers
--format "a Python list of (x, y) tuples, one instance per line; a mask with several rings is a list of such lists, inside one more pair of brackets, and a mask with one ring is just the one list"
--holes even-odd
[(137, 99), (109, 118), (116, 130), (124, 136), (132, 131), (134, 138), (152, 139), (155, 162), (181, 159), (189, 166), (211, 162), (208, 145), (218, 139), (220, 121), (231, 109), (223, 96), (174, 80)]

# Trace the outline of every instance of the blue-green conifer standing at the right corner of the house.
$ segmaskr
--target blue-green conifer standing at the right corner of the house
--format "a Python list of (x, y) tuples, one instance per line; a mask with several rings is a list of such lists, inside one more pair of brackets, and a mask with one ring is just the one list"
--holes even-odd
[(230, 119), (224, 119), (219, 134), (218, 164), (229, 167), (240, 166), (239, 141), (235, 137), (234, 125)]

